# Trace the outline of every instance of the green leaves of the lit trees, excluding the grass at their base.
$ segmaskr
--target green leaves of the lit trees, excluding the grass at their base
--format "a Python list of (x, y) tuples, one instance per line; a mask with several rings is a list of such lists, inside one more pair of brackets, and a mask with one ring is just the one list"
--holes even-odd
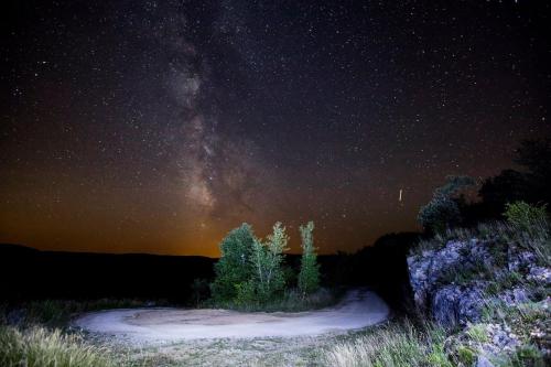
[[(320, 270), (314, 248), (314, 224), (300, 227), (303, 255), (299, 288), (304, 295), (320, 288)], [(238, 305), (261, 305), (283, 298), (285, 280), (291, 279), (284, 267), (289, 236), (281, 223), (276, 223), (266, 239), (252, 234), (242, 224), (231, 230), (220, 244), (222, 257), (215, 265), (216, 279), (210, 284), (213, 299)]]

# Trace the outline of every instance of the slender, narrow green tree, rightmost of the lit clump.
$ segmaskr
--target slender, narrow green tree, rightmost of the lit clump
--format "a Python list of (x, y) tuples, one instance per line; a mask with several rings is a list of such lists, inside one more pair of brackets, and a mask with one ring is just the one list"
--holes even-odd
[(320, 266), (314, 248), (314, 223), (309, 222), (300, 226), (302, 239), (301, 272), (299, 273), (299, 289), (303, 296), (315, 292), (320, 288)]

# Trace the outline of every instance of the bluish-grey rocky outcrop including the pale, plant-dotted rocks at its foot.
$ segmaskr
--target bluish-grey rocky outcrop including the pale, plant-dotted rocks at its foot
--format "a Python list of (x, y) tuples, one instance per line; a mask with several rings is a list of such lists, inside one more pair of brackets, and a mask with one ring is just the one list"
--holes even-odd
[[(437, 324), (458, 330), (454, 337), (477, 350), (476, 366), (494, 366), (497, 355), (533, 344), (549, 357), (548, 263), (515, 242), (477, 238), (449, 240), (408, 257), (417, 306)], [(482, 341), (469, 336), (473, 325)]]

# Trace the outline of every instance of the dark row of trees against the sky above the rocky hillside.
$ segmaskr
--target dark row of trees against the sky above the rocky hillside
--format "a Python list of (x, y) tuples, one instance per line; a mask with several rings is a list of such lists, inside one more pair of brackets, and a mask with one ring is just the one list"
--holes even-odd
[[(418, 219), (428, 233), (480, 222), (504, 219), (507, 205), (523, 202), (549, 209), (551, 193), (551, 140), (523, 141), (515, 151), (520, 170), (504, 170), (482, 183), (468, 176), (447, 176), (432, 199), (421, 207)], [(478, 201), (468, 202), (465, 191), (479, 185)]]

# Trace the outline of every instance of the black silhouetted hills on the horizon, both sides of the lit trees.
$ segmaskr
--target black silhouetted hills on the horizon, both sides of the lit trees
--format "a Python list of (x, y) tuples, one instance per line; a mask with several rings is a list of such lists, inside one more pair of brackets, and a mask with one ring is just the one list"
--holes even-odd
[[(406, 256), (418, 234), (382, 236), (356, 253), (318, 256), (325, 285), (368, 285), (395, 309), (409, 302)], [(133, 298), (185, 302), (196, 278), (212, 279), (217, 259), (201, 256), (42, 251), (0, 244), (0, 301)], [(295, 272), (300, 255), (288, 255)]]

